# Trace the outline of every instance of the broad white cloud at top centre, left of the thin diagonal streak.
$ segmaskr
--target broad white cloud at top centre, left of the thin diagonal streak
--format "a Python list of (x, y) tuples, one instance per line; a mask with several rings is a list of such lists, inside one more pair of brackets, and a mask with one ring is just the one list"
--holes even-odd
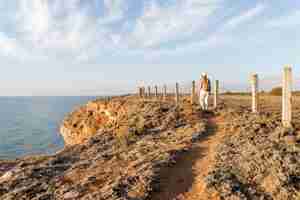
[(133, 45), (154, 47), (169, 41), (186, 39), (204, 29), (208, 17), (221, 1), (178, 0), (162, 7), (151, 1), (137, 20), (131, 35)]

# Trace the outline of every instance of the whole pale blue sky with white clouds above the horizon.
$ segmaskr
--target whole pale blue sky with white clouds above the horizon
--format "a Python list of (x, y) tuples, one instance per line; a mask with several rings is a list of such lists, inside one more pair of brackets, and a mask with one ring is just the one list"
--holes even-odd
[[(0, 96), (111, 95), (187, 85), (300, 85), (298, 0), (0, 1)], [(299, 76), (298, 76), (299, 74)], [(298, 78), (299, 77), (299, 78)]]

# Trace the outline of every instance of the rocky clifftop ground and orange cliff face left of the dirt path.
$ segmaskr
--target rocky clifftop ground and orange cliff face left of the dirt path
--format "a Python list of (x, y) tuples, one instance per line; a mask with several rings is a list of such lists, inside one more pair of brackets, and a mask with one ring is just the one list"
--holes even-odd
[(0, 199), (149, 198), (162, 170), (205, 133), (205, 124), (187, 102), (90, 102), (66, 117), (69, 145), (62, 151), (0, 162)]

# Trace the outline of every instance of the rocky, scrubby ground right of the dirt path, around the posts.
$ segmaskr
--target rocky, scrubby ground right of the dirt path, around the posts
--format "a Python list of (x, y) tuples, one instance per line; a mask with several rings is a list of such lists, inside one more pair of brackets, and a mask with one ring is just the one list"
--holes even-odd
[(294, 128), (281, 126), (280, 97), (263, 97), (259, 115), (249, 98), (226, 97), (221, 114), (226, 137), (219, 145), (208, 186), (221, 199), (300, 199), (300, 118), (294, 99)]

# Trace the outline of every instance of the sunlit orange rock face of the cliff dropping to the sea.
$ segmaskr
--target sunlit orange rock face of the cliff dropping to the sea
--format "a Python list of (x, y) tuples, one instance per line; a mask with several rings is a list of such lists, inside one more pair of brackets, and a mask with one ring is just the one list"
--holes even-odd
[(95, 100), (69, 114), (60, 127), (66, 145), (82, 144), (99, 129), (113, 127), (126, 115), (125, 99)]

